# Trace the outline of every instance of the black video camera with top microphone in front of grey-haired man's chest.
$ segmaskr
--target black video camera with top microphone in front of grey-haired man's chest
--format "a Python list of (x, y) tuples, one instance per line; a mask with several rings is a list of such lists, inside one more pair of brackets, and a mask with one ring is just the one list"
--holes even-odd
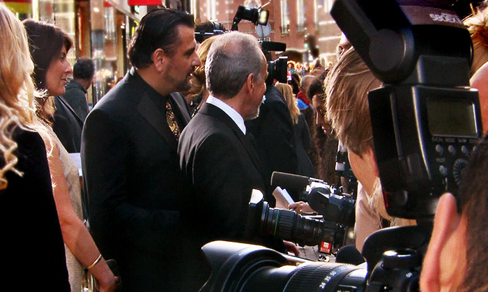
[(273, 185), (303, 186), (304, 201), (308, 201), (319, 216), (270, 208), (261, 192), (254, 190), (247, 215), (247, 230), (253, 231), (251, 238), (277, 236), (302, 246), (319, 245), (320, 251), (326, 254), (335, 254), (346, 243), (348, 231), (355, 222), (355, 200), (349, 194), (343, 194), (317, 178), (277, 171), (273, 172), (271, 181)]

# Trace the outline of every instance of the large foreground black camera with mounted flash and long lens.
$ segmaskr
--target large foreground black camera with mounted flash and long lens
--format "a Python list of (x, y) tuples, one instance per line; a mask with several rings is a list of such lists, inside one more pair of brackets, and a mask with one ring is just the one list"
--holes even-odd
[(369, 236), (366, 269), (208, 243), (202, 249), (213, 277), (202, 291), (419, 290), (439, 197), (457, 194), (482, 136), (478, 92), (469, 89), (471, 38), (443, 0), (335, 0), (330, 14), (383, 82), (368, 94), (383, 199), (389, 215), (417, 225)]

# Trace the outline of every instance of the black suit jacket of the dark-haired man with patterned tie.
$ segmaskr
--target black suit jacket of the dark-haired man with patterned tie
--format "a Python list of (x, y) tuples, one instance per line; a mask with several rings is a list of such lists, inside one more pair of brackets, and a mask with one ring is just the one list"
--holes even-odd
[(180, 291), (178, 142), (169, 130), (169, 98), (181, 128), (190, 120), (179, 93), (163, 97), (132, 68), (86, 118), (82, 169), (96, 244), (119, 265), (123, 291)]

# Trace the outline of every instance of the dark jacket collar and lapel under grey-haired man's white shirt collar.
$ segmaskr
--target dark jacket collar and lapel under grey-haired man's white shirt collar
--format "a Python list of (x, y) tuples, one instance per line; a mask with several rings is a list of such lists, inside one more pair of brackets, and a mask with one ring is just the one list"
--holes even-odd
[(259, 160), (259, 156), (257, 155), (257, 152), (254, 149), (252, 142), (250, 141), (250, 139), (245, 137), (244, 133), (241, 131), (238, 125), (236, 125), (236, 123), (234, 122), (234, 120), (232, 120), (230, 116), (222, 111), (222, 109), (219, 109), (218, 107), (215, 107), (215, 105), (211, 105), (206, 102), (204, 103), (204, 105), (202, 105), (201, 109), (199, 110), (199, 113), (200, 112), (201, 114), (207, 114), (208, 116), (213, 116), (214, 118), (217, 118), (219, 121), (222, 121), (222, 123), (225, 123), (229, 128), (231, 128), (238, 137), (239, 141), (241, 141), (241, 143), (243, 144), (247, 153), (249, 153), (254, 165), (256, 165), (259, 171), (261, 171), (261, 161)]

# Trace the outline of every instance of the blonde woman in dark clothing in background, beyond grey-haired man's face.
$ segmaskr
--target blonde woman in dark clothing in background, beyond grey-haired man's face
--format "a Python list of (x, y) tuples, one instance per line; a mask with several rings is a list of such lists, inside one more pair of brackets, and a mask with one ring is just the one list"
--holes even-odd
[(308, 155), (310, 148), (312, 148), (312, 142), (305, 115), (298, 109), (297, 100), (289, 84), (278, 82), (275, 86), (282, 93), (291, 115), (291, 121), (293, 121), (298, 174), (300, 176), (315, 177), (314, 165)]

